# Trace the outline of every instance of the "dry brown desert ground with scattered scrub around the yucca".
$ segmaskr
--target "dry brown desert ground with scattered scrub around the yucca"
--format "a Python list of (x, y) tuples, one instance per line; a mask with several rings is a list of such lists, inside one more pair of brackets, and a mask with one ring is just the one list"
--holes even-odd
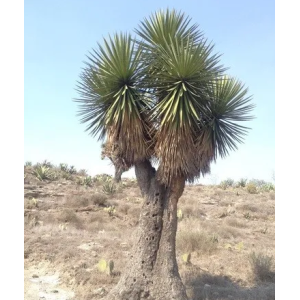
[[(24, 166), (24, 299), (103, 298), (126, 267), (142, 196), (135, 179)], [(275, 188), (187, 185), (177, 261), (193, 300), (275, 299)], [(108, 267), (110, 266), (110, 267)]]

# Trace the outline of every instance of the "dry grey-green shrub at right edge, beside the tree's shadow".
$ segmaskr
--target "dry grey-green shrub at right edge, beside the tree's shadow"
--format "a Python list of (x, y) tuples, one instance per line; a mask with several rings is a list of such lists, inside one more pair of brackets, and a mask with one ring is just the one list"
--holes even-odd
[(252, 252), (249, 256), (251, 268), (256, 280), (274, 281), (274, 272), (272, 271), (273, 257), (262, 253)]

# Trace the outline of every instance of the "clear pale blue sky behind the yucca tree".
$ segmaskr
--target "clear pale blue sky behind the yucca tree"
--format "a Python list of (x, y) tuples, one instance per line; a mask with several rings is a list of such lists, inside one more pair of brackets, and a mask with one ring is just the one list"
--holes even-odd
[[(239, 149), (212, 165), (213, 183), (241, 177), (272, 180), (275, 171), (274, 1), (24, 2), (24, 161), (49, 160), (113, 174), (100, 159), (100, 143), (76, 116), (76, 81), (85, 55), (108, 34), (133, 32), (162, 8), (185, 12), (199, 24), (229, 73), (249, 87), (256, 104), (252, 130)], [(125, 176), (134, 176), (130, 170)]]

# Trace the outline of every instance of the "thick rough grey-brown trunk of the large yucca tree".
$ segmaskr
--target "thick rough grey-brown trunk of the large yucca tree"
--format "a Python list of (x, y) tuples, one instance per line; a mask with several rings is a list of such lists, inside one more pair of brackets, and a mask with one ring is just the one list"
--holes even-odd
[(187, 300), (175, 252), (177, 201), (185, 180), (176, 178), (164, 187), (149, 161), (136, 164), (135, 171), (145, 200), (137, 241), (119, 283), (105, 299)]

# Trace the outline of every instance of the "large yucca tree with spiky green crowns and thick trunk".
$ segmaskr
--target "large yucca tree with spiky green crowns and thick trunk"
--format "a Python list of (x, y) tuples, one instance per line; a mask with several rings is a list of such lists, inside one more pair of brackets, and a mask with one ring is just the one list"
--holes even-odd
[(104, 39), (78, 83), (81, 121), (135, 168), (144, 197), (131, 259), (109, 300), (187, 299), (175, 255), (177, 202), (187, 181), (247, 133), (240, 125), (253, 109), (247, 89), (190, 23), (184, 13), (158, 11), (137, 38)]

